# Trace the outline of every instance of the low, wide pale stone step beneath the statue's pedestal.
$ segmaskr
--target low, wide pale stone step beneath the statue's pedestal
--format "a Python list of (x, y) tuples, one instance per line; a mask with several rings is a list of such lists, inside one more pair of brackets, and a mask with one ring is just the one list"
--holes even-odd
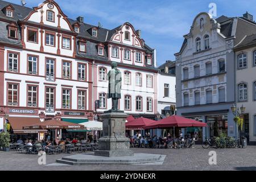
[(147, 164), (164, 162), (166, 155), (135, 153), (133, 156), (105, 157), (93, 154), (78, 154), (56, 160), (57, 163), (69, 165), (86, 164)]

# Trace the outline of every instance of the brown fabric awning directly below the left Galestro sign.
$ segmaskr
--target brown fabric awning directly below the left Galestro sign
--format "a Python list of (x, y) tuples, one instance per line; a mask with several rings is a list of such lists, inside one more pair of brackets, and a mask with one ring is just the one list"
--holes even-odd
[(10, 117), (8, 119), (14, 134), (31, 134), (31, 133), (47, 133), (47, 130), (22, 130), (23, 126), (32, 125), (40, 122), (39, 118), (16, 118)]

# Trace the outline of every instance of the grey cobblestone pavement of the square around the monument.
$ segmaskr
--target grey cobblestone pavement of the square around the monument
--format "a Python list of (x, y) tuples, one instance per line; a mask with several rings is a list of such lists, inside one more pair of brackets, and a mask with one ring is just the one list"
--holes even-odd
[[(166, 155), (162, 165), (147, 165), (139, 167), (140, 170), (255, 170), (256, 171), (256, 146), (233, 149), (203, 149), (201, 146), (187, 149), (147, 149), (132, 148), (134, 152), (147, 154)], [(217, 165), (209, 165), (209, 152), (217, 152)], [(55, 163), (56, 159), (74, 154), (47, 155), (47, 164)], [(86, 166), (44, 166), (38, 164), (38, 155), (18, 154), (15, 151), (0, 151), (0, 170), (96, 170), (96, 171), (135, 171), (138, 166), (127, 165), (86, 165)], [(142, 164), (145, 165), (145, 164)]]

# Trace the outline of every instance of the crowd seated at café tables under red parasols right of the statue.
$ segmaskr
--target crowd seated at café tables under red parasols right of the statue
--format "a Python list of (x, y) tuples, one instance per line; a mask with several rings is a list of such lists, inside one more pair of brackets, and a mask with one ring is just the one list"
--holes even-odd
[[(126, 134), (126, 137), (129, 137)], [(193, 136), (195, 137), (195, 136)], [(195, 138), (192, 138), (191, 135), (185, 135), (180, 133), (179, 137), (173, 137), (170, 133), (168, 133), (167, 137), (158, 137), (154, 135), (151, 137), (150, 133), (145, 133), (144, 136), (141, 133), (134, 134), (133, 137), (130, 138), (130, 146), (131, 147), (138, 147), (138, 148), (177, 148), (181, 142), (187, 142), (187, 147), (191, 147), (193, 142), (195, 142)], [(190, 146), (188, 146), (190, 145)]]

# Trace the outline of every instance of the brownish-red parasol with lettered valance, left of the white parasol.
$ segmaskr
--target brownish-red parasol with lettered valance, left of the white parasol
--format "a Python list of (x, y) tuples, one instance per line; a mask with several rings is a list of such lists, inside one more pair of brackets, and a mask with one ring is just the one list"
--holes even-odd
[(44, 122), (34, 123), (33, 125), (23, 126), (23, 130), (33, 129), (83, 129), (84, 125), (76, 123), (69, 123), (65, 121), (57, 121), (55, 119), (49, 119)]

